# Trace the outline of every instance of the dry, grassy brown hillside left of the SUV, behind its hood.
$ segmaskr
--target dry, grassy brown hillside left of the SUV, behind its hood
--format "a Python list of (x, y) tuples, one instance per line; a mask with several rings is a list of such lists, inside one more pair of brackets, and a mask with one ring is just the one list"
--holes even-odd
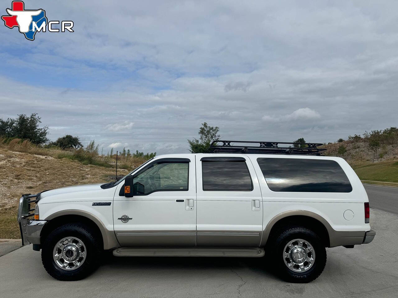
[[(57, 159), (58, 151), (62, 150), (43, 149), (24, 143), (14, 141), (7, 146), (0, 143), (0, 238), (20, 238), (16, 215), (21, 194), (36, 194), (76, 184), (109, 182), (115, 175), (115, 168), (84, 165), (67, 158)], [(132, 160), (131, 167), (142, 162)], [(129, 170), (119, 168), (117, 173), (125, 175)]]

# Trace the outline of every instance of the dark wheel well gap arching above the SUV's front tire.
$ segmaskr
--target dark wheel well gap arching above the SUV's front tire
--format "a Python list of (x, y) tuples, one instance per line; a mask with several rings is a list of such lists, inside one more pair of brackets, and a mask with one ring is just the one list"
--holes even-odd
[(49, 220), (41, 230), (40, 238), (41, 243), (44, 242), (44, 239), (57, 227), (62, 226), (65, 223), (81, 223), (86, 226), (89, 226), (91, 230), (96, 234), (101, 243), (101, 248), (103, 248), (103, 238), (101, 234), (100, 228), (97, 226), (94, 221), (91, 219), (84, 217), (82, 215), (61, 215), (59, 217), (55, 217), (54, 219)]

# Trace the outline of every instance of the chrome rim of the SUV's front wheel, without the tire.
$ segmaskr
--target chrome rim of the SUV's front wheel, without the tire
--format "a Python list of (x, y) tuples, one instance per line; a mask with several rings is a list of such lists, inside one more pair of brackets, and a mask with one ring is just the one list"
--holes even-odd
[(74, 270), (86, 260), (86, 246), (79, 238), (62, 238), (54, 247), (53, 259), (58, 267), (64, 270)]

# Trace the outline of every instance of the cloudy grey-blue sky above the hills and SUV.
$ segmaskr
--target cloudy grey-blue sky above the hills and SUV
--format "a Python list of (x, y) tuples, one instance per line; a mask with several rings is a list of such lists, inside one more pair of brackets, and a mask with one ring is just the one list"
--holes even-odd
[(0, 118), (37, 112), (51, 139), (186, 153), (202, 122), (270, 141), (398, 126), (396, 1), (25, 1), (38, 8), (74, 32), (28, 41), (1, 22)]

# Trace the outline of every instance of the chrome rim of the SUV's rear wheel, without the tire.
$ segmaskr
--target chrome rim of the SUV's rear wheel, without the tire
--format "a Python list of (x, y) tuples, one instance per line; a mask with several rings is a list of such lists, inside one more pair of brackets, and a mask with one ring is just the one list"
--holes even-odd
[(315, 251), (308, 241), (295, 239), (286, 244), (283, 260), (290, 270), (305, 272), (314, 265)]

